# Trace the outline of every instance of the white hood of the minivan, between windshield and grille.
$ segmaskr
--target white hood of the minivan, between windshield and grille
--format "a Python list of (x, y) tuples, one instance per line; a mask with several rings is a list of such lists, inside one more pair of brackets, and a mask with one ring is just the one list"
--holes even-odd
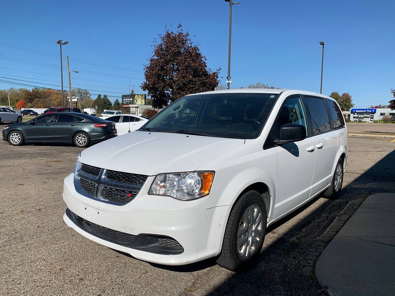
[(194, 171), (244, 143), (244, 139), (134, 131), (87, 148), (79, 161), (103, 169), (153, 176)]

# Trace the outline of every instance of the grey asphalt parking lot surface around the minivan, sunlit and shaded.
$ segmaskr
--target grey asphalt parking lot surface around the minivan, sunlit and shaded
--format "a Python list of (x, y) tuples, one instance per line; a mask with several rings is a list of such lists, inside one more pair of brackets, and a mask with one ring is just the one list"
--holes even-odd
[(0, 142), (0, 295), (325, 295), (315, 263), (372, 193), (395, 191), (392, 138), (348, 137), (340, 198), (316, 198), (267, 230), (258, 264), (142, 262), (67, 227), (63, 179), (81, 149)]

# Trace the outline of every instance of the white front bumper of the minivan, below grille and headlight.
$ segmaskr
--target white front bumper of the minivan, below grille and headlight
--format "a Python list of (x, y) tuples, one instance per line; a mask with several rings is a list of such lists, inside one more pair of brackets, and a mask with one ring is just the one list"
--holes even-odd
[(183, 252), (163, 255), (117, 244), (84, 231), (64, 214), (68, 226), (99, 244), (128, 253), (133, 257), (166, 265), (183, 265), (214, 257), (220, 253), (222, 238), (231, 206), (207, 210), (208, 196), (182, 201), (166, 196), (148, 195), (154, 176), (150, 176), (137, 196), (117, 206), (89, 199), (75, 191), (73, 176), (64, 179), (63, 199), (71, 212), (107, 229), (139, 236), (168, 236), (179, 242)]

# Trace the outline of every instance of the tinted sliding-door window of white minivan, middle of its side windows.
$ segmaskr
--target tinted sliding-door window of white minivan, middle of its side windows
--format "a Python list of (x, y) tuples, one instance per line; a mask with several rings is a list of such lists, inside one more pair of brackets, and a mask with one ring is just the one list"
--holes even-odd
[(310, 120), (313, 127), (313, 134), (330, 131), (328, 111), (326, 110), (324, 99), (316, 97), (305, 97), (308, 110), (310, 111)]

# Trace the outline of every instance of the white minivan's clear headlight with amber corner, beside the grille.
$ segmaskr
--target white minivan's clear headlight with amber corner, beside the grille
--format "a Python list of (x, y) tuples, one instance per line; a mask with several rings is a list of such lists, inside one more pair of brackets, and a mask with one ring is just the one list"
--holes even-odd
[(209, 194), (214, 172), (183, 172), (155, 177), (148, 194), (192, 200)]

